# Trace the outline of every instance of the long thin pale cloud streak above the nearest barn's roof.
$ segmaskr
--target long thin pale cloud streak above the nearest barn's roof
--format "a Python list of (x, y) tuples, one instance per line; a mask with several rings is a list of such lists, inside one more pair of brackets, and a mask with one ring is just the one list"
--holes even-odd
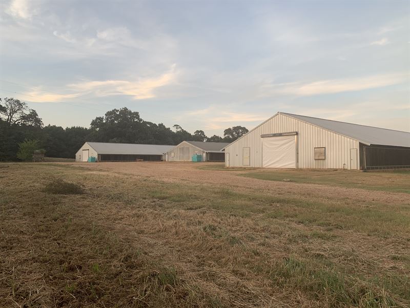
[(264, 85), (265, 94), (288, 94), (297, 96), (310, 96), (350, 91), (360, 91), (401, 84), (407, 81), (407, 74), (384, 74), (362, 78), (346, 78), (335, 80), (321, 80), (311, 83), (289, 83)]

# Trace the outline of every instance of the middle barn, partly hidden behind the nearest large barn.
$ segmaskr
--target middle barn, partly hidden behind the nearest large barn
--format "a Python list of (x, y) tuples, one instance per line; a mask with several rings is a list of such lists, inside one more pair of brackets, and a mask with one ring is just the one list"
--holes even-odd
[(225, 160), (222, 148), (227, 142), (182, 141), (167, 152), (170, 162), (190, 162), (194, 154), (201, 155), (204, 162), (223, 162)]

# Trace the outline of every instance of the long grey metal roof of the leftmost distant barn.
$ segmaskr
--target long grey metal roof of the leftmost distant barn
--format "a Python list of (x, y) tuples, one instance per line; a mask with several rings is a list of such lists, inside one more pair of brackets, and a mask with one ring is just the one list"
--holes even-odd
[(173, 145), (87, 142), (98, 154), (162, 155)]

